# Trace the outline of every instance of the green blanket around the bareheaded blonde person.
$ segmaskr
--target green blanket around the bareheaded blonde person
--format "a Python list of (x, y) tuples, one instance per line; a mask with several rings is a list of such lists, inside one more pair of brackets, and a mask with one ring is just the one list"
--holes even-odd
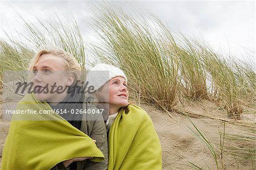
[[(27, 94), (16, 108), (28, 109), (52, 110), (47, 102), (36, 100), (34, 94)], [(40, 121), (42, 119), (44, 121)], [(46, 170), (73, 157), (94, 157), (91, 160), (96, 162), (104, 160), (104, 155), (89, 136), (56, 113), (13, 115), (1, 169)]]

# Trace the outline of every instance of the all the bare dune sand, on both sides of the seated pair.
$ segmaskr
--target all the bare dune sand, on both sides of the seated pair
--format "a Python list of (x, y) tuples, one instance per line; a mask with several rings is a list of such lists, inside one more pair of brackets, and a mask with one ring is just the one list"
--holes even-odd
[[(1, 107), (6, 107), (5, 103), (2, 103)], [(15, 108), (15, 103), (13, 103), (11, 107)], [(188, 161), (196, 165), (200, 165), (200, 167), (204, 167), (205, 169), (217, 169), (209, 149), (199, 139), (192, 135), (191, 131), (189, 131), (188, 126), (192, 127), (192, 124), (188, 117), (180, 114), (172, 114), (174, 119), (176, 119), (175, 121), (174, 119), (168, 118), (166, 114), (155, 107), (147, 105), (142, 105), (141, 107), (150, 115), (155, 125), (156, 132), (159, 135), (163, 152), (163, 169), (193, 169), (187, 166)], [(211, 116), (225, 118), (225, 115), (221, 113), (221, 110), (209, 101), (203, 101), (201, 106), (197, 105), (197, 103), (188, 103), (183, 110), (196, 114), (207, 113)], [(250, 117), (255, 120), (255, 114), (250, 115)], [(10, 116), (2, 114), (0, 115), (0, 118), (1, 164), (3, 144), (10, 126)], [(203, 130), (205, 134), (207, 134), (208, 138), (213, 143), (220, 142), (218, 130), (223, 130), (223, 123), (209, 118), (190, 119), (197, 127), (200, 128), (200, 130)], [(244, 133), (239, 126), (231, 124), (226, 124), (226, 132), (230, 132), (232, 134)], [(224, 163), (226, 169), (237, 169), (235, 161), (228, 160), (228, 157), (224, 157)], [(241, 161), (239, 169), (252, 169), (251, 162)]]

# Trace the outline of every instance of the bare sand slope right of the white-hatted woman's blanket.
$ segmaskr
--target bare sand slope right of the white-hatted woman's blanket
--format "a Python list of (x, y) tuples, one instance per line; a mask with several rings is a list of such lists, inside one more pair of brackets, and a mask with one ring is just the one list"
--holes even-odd
[[(219, 143), (218, 131), (223, 131), (223, 123), (208, 118), (188, 119), (183, 115), (174, 116), (176, 119), (174, 121), (174, 119), (168, 119), (162, 111), (154, 107), (142, 107), (147, 110), (159, 135), (163, 151), (163, 169), (193, 169), (186, 166), (188, 161), (205, 169), (217, 169), (207, 146), (192, 135), (188, 126), (192, 127), (192, 123), (189, 121), (191, 119), (201, 131), (204, 131), (212, 143)], [(225, 126), (226, 133), (243, 134), (245, 132), (235, 125), (226, 124)], [(237, 169), (235, 161), (225, 160), (224, 157), (224, 163), (226, 169)], [(252, 169), (251, 162), (241, 161), (239, 169)]]

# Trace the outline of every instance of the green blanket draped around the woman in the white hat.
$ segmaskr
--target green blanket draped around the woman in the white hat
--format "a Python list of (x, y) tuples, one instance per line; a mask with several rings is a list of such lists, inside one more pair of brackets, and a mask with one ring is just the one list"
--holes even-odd
[(162, 150), (154, 125), (143, 109), (128, 106), (109, 132), (109, 165), (112, 169), (162, 169)]

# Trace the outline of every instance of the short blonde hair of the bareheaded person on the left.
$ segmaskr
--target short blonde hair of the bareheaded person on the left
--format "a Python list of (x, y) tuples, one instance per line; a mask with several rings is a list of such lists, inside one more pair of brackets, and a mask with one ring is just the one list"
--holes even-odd
[(75, 81), (80, 80), (81, 77), (81, 67), (77, 62), (76, 58), (70, 53), (64, 51), (64, 49), (53, 47), (51, 45), (44, 45), (35, 53), (34, 57), (28, 64), (28, 71), (32, 71), (34, 65), (38, 62), (40, 57), (44, 54), (52, 54), (60, 57), (65, 63), (65, 70), (75, 76)]

